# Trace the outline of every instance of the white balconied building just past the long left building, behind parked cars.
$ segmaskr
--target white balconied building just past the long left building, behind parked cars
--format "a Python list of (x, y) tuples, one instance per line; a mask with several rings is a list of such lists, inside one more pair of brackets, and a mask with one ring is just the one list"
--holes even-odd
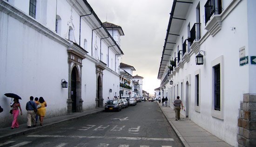
[(133, 71), (135, 68), (131, 65), (120, 63), (120, 97), (129, 96), (132, 97), (133, 92)]

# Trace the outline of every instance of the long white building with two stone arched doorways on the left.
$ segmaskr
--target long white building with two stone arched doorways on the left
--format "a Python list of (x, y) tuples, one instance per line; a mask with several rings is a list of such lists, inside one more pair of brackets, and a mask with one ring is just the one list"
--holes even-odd
[(22, 97), (19, 123), (27, 121), (29, 96), (44, 97), (46, 117), (54, 117), (118, 95), (124, 34), (103, 24), (86, 0), (0, 0), (0, 22), (0, 127), (13, 119), (5, 93)]

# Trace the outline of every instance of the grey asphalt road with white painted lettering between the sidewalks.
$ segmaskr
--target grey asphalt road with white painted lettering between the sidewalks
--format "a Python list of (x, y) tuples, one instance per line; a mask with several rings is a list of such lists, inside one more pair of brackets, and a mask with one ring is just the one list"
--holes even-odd
[(0, 142), (0, 147), (182, 147), (155, 102), (102, 112)]

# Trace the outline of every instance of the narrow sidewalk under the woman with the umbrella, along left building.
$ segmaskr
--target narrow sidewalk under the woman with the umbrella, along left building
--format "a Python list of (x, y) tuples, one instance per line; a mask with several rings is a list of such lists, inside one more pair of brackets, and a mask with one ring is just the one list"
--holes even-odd
[(46, 127), (51, 127), (51, 126), (56, 125), (60, 122), (71, 121), (71, 120), (75, 120), (75, 119), (78, 119), (78, 118), (82, 118), (84, 116), (93, 115), (93, 114), (102, 112), (103, 110), (104, 110), (104, 108), (95, 108), (95, 109), (84, 110), (84, 112), (77, 112), (77, 113), (62, 115), (62, 116), (53, 117), (53, 118), (45, 117), (44, 120), (43, 120), (43, 126), (42, 127), (40, 126), (40, 120), (38, 118), (38, 122), (36, 124), (37, 125), (36, 127), (27, 128), (27, 123), (25, 123), (25, 124), (20, 124), (19, 128), (14, 128), (14, 129), (11, 129), (11, 127), (0, 128), (0, 141), (7, 140), (7, 139), (10, 139), (14, 136), (18, 136), (18, 135), (21, 135), (21, 134), (28, 134), (28, 133), (31, 133), (33, 131), (43, 129), (43, 128), (46, 128)]

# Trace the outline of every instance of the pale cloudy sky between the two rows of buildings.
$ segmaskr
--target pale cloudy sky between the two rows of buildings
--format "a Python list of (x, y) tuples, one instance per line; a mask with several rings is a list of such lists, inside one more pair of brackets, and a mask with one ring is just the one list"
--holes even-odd
[(121, 26), (121, 62), (144, 77), (143, 90), (154, 94), (173, 0), (87, 0), (101, 22)]

